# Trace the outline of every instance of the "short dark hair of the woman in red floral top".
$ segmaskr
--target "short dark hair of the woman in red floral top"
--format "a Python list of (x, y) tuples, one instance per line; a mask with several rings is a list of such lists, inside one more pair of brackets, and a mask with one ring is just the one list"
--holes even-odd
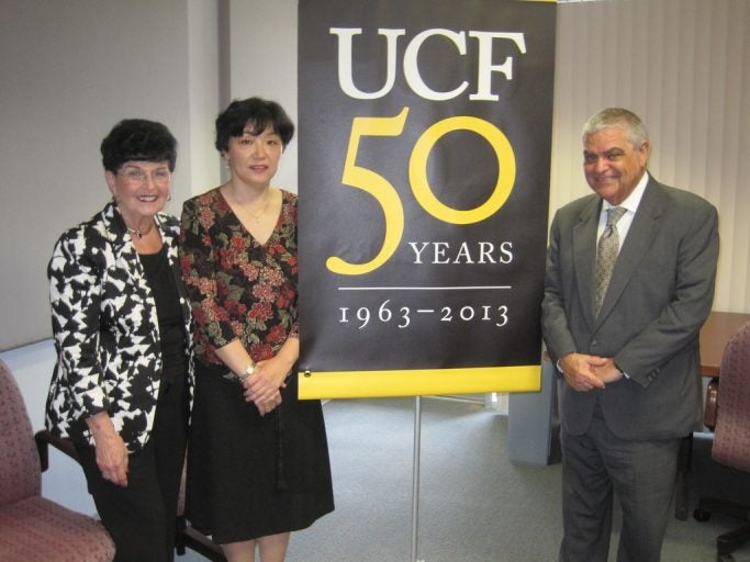
[(253, 135), (259, 135), (270, 127), (281, 137), (281, 145), (287, 145), (294, 136), (294, 123), (287, 112), (275, 101), (261, 98), (235, 100), (216, 117), (215, 146), (220, 153), (230, 149), (230, 138), (243, 136), (245, 127), (253, 127)]

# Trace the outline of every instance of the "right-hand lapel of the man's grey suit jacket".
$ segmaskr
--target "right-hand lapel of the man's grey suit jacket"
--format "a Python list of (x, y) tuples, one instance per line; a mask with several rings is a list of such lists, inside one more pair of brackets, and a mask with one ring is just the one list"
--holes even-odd
[(649, 178), (643, 198), (640, 200), (636, 216), (633, 218), (633, 224), (617, 257), (607, 293), (604, 295), (602, 310), (596, 317), (596, 324), (601, 324), (619, 301), (623, 291), (638, 268), (638, 263), (648, 252), (648, 248), (659, 229), (662, 207), (662, 194), (659, 184)]

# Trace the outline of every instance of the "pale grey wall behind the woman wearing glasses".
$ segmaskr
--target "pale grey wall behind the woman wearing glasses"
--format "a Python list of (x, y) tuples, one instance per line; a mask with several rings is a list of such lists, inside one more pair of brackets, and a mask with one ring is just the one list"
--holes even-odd
[(0, 349), (51, 335), (47, 260), (110, 199), (99, 145), (117, 121), (160, 121), (177, 137), (168, 211), (193, 179), (215, 183), (215, 4), (0, 0), (0, 311), (14, 319)]

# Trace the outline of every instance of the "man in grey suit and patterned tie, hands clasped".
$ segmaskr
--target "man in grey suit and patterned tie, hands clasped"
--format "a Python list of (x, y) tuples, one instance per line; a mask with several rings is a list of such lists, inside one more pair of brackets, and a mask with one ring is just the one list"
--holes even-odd
[(698, 331), (714, 297), (718, 216), (647, 172), (648, 135), (630, 111), (593, 115), (583, 145), (595, 193), (553, 218), (542, 302), (564, 378), (560, 561), (607, 560), (614, 490), (617, 560), (656, 562), (680, 442), (701, 418)]

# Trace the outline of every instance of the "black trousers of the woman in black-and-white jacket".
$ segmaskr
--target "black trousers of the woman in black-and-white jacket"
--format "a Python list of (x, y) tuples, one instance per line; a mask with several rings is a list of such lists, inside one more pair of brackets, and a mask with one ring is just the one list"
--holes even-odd
[(188, 430), (187, 375), (159, 395), (146, 446), (128, 457), (127, 486), (104, 480), (92, 447), (76, 445), (102, 524), (114, 541), (115, 562), (175, 559), (175, 527)]

